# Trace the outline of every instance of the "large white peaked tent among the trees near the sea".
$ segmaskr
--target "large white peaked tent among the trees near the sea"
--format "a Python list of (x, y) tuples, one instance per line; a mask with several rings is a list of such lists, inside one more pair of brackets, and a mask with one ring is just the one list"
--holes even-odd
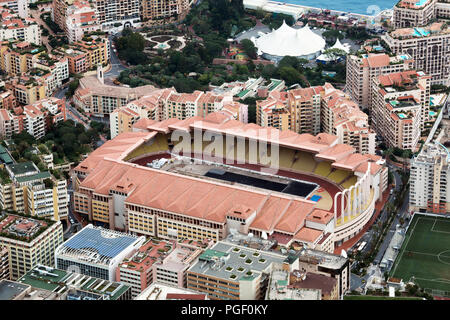
[(325, 40), (306, 25), (294, 29), (283, 21), (281, 27), (254, 40), (266, 59), (279, 61), (284, 56), (316, 58), (325, 48)]

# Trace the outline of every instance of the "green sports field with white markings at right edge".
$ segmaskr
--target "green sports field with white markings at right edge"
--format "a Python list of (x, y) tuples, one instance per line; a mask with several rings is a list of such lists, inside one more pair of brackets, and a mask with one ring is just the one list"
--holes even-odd
[(405, 282), (414, 277), (427, 291), (449, 295), (450, 219), (415, 214), (391, 276)]

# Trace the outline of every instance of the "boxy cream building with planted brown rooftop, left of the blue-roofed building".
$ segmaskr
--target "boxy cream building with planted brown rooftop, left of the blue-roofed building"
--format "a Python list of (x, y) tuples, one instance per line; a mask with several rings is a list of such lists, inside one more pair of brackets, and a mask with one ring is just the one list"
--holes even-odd
[(38, 264), (54, 265), (54, 253), (63, 242), (60, 221), (0, 214), (0, 246), (9, 251), (11, 279), (26, 274)]

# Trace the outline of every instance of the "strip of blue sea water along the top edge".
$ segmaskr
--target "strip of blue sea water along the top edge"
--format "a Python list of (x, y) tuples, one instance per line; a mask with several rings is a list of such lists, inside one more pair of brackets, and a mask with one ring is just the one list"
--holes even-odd
[(376, 15), (385, 9), (392, 9), (397, 0), (275, 0), (281, 3), (299, 4), (315, 8), (338, 10), (344, 12)]

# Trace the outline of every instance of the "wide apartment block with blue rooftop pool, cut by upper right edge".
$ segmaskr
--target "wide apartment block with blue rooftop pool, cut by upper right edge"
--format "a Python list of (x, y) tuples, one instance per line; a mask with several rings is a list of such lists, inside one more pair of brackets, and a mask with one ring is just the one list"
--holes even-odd
[(431, 84), (450, 84), (450, 27), (445, 22), (396, 29), (382, 39), (394, 54), (411, 56), (414, 69), (430, 75)]

